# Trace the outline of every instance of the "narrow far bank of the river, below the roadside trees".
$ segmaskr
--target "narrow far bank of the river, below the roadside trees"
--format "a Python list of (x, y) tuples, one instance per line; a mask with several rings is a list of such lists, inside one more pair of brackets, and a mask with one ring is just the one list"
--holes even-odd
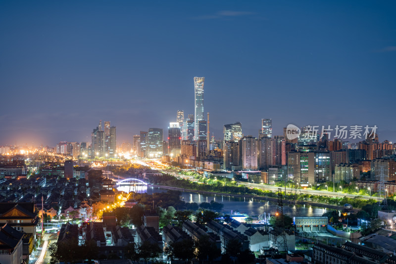
[[(248, 195), (248, 194), (246, 194), (246, 195), (245, 194), (227, 194), (227, 193), (210, 192), (210, 191), (198, 191), (198, 190), (184, 189), (184, 188), (179, 188), (179, 187), (171, 187), (171, 186), (164, 186), (164, 185), (152, 185), (152, 184), (149, 184), (148, 187), (157, 187), (157, 188), (162, 188), (162, 189), (178, 190), (178, 191), (183, 191), (183, 192), (193, 192), (193, 193), (200, 193), (200, 194), (212, 194), (212, 195), (215, 194), (215, 195), (223, 195), (223, 196), (241, 197), (241, 198), (257, 199), (257, 200), (262, 200), (262, 201), (271, 201), (271, 202), (278, 201), (277, 198), (273, 198), (273, 197), (255, 196), (255, 195)], [(309, 206), (314, 206), (314, 207), (329, 208), (329, 209), (340, 210), (340, 211), (344, 210), (344, 207), (342, 207), (342, 206), (321, 204), (321, 203), (315, 203), (315, 202), (309, 202), (309, 201), (294, 201), (294, 200), (292, 201), (292, 200), (283, 199), (283, 204), (285, 206), (291, 206), (291, 205), (297, 204), (297, 205), (309, 205)], [(354, 209), (354, 211), (359, 211), (359, 209)]]

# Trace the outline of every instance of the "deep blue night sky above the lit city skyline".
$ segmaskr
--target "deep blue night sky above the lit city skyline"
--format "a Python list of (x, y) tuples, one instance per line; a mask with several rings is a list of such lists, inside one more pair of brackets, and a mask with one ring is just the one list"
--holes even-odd
[(176, 111), (205, 77), (211, 132), (377, 125), (396, 141), (395, 1), (1, 1), (0, 145), (117, 145)]

